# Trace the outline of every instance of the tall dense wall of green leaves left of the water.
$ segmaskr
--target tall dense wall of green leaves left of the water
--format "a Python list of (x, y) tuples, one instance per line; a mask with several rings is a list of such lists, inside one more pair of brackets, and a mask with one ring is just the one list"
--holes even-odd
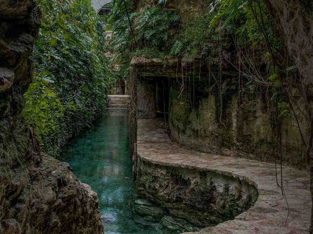
[(105, 29), (89, 0), (40, 0), (35, 78), (24, 117), (33, 122), (44, 151), (57, 156), (71, 137), (105, 108), (112, 77), (104, 55)]

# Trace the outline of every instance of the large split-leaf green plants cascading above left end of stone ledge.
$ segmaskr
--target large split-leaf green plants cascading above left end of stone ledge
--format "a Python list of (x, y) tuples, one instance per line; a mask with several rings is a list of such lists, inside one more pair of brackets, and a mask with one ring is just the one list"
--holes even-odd
[[(119, 64), (117, 71), (113, 72), (115, 79), (128, 81), (132, 69), (129, 63), (134, 56), (161, 57), (165, 60), (165, 54), (180, 53), (182, 45), (174, 41), (180, 17), (176, 12), (162, 12), (165, 3), (160, 1), (142, 12), (129, 12), (131, 27), (123, 1), (115, 1), (113, 10), (104, 17), (106, 29), (114, 32), (107, 50), (115, 54), (110, 63)], [(128, 5), (127, 9), (131, 6)], [(172, 49), (174, 43), (176, 45)]]

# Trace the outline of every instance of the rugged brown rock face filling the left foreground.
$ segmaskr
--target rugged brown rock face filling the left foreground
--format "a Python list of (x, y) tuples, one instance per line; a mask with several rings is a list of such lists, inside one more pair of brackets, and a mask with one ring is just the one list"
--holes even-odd
[(1, 1), (0, 233), (100, 234), (97, 194), (67, 163), (40, 155), (21, 117), (39, 24), (35, 1)]

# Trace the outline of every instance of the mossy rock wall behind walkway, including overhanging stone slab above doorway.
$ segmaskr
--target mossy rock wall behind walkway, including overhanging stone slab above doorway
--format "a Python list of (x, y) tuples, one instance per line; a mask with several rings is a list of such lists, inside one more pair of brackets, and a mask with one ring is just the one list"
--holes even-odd
[[(182, 147), (265, 162), (274, 162), (276, 156), (280, 162), (277, 124), (274, 126), (272, 145), (269, 98), (265, 92), (249, 92), (249, 86), (242, 83), (239, 94), (239, 82), (242, 80), (239, 79), (238, 71), (229, 63), (222, 68), (221, 84), (225, 92), (222, 101), (219, 100), (218, 86), (213, 78), (214, 74), (217, 76), (218, 66), (212, 65), (210, 72), (204, 62), (201, 62), (201, 58), (168, 58), (166, 66), (163, 66), (158, 58), (134, 57), (131, 65), (136, 68), (136, 75), (141, 82), (151, 83), (161, 80), (162, 77), (169, 78), (169, 131), (172, 140)], [(310, 110), (308, 102), (295, 87), (289, 86), (286, 90), (296, 103), (295, 112), (307, 141)], [(151, 93), (139, 89), (138, 113), (144, 113), (152, 107), (152, 104), (141, 104), (144, 100), (141, 97), (145, 95), (154, 98)], [(283, 164), (305, 169), (306, 149), (296, 119), (292, 113), (281, 119)]]

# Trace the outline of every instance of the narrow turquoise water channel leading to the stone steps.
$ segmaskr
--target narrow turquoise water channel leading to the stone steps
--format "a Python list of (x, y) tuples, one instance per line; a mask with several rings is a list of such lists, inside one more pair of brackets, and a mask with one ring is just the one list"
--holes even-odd
[(85, 137), (72, 142), (62, 160), (98, 193), (105, 234), (160, 233), (133, 221), (134, 183), (126, 116), (105, 116)]

